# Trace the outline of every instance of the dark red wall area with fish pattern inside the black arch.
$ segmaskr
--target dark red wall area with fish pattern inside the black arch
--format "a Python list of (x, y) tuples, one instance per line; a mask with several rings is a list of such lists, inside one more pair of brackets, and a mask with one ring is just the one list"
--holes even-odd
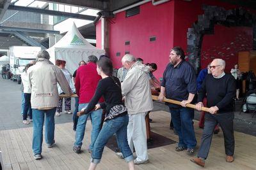
[[(225, 35), (225, 36), (223, 36)], [(252, 50), (251, 27), (224, 27), (215, 26), (214, 35), (205, 35), (202, 44), (201, 62), (202, 68), (214, 58), (226, 61), (227, 73), (238, 62), (238, 52)]]

